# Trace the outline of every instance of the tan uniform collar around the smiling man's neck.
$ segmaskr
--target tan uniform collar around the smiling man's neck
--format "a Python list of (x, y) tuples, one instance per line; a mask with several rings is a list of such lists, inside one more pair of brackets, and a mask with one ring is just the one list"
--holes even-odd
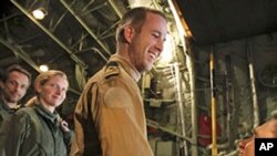
[(132, 65), (130, 62), (127, 62), (123, 56), (119, 54), (113, 54), (110, 61), (115, 61), (121, 64), (121, 66), (135, 80), (135, 82), (138, 82), (141, 79), (141, 73)]

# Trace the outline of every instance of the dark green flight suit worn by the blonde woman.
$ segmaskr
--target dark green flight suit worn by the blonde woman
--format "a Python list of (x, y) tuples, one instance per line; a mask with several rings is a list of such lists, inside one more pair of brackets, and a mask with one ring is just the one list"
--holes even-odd
[[(16, 112), (4, 128), (7, 156), (66, 156), (71, 146), (71, 132), (60, 128), (59, 115), (40, 104)], [(66, 136), (65, 136), (66, 135)]]

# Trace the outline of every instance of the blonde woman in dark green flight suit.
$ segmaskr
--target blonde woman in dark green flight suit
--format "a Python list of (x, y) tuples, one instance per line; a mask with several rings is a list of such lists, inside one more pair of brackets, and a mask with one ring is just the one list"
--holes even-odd
[(7, 156), (66, 156), (71, 131), (55, 111), (66, 96), (69, 81), (61, 71), (39, 74), (34, 81), (37, 97), (19, 110), (8, 124), (4, 141)]

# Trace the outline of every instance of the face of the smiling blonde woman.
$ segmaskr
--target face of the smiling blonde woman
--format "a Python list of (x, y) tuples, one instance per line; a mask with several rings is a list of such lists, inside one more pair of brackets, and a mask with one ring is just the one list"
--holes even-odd
[(48, 107), (61, 105), (66, 97), (68, 87), (69, 83), (64, 77), (60, 75), (53, 76), (45, 84), (38, 87), (40, 102)]

